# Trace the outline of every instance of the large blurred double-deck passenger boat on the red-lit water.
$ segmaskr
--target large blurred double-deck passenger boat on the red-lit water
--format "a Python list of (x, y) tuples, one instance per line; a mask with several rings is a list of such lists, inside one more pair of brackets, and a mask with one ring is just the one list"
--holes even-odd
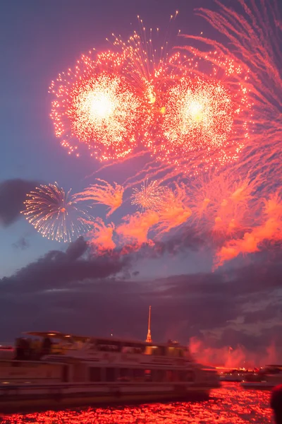
[(214, 367), (177, 342), (27, 332), (16, 358), (0, 360), (0, 412), (206, 398)]

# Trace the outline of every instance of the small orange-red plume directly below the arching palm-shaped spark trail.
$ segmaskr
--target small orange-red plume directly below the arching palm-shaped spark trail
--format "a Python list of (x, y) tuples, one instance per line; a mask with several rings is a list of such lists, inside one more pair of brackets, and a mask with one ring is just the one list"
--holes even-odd
[(85, 221), (85, 224), (91, 228), (86, 237), (90, 240), (90, 246), (95, 254), (109, 254), (116, 248), (113, 240), (114, 223), (106, 225), (102, 218), (96, 218), (95, 220)]

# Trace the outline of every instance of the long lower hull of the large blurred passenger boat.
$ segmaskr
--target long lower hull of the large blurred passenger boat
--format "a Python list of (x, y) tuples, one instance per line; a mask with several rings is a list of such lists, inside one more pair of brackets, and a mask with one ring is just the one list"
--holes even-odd
[(142, 403), (195, 399), (209, 396), (210, 389), (219, 384), (51, 384), (47, 386), (0, 387), (0, 411), (61, 409), (75, 406), (97, 406), (100, 404)]

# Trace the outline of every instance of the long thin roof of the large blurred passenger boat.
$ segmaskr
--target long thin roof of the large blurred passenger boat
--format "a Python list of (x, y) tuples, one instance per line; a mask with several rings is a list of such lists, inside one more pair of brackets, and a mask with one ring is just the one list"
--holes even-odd
[(101, 344), (118, 344), (118, 343), (126, 343), (127, 346), (136, 346), (136, 345), (145, 345), (145, 346), (171, 346), (171, 347), (178, 347), (178, 348), (185, 348), (185, 346), (180, 346), (177, 342), (171, 342), (171, 343), (149, 343), (147, 341), (140, 341), (140, 340), (133, 340), (133, 339), (123, 339), (123, 338), (116, 338), (116, 337), (92, 337), (92, 336), (76, 336), (75, 334), (67, 334), (67, 333), (61, 333), (61, 331), (26, 331), (24, 334), (27, 334), (29, 336), (36, 336), (36, 337), (49, 337), (49, 338), (56, 338), (59, 340), (66, 340), (66, 338), (70, 338), (73, 341), (99, 341)]

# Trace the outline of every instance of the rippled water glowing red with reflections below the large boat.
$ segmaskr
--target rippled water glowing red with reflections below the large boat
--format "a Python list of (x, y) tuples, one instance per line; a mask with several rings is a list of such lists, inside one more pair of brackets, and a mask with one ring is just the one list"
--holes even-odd
[(268, 391), (245, 391), (225, 384), (205, 402), (171, 402), (120, 408), (85, 408), (1, 416), (0, 423), (40, 424), (180, 424), (180, 423), (273, 423)]

